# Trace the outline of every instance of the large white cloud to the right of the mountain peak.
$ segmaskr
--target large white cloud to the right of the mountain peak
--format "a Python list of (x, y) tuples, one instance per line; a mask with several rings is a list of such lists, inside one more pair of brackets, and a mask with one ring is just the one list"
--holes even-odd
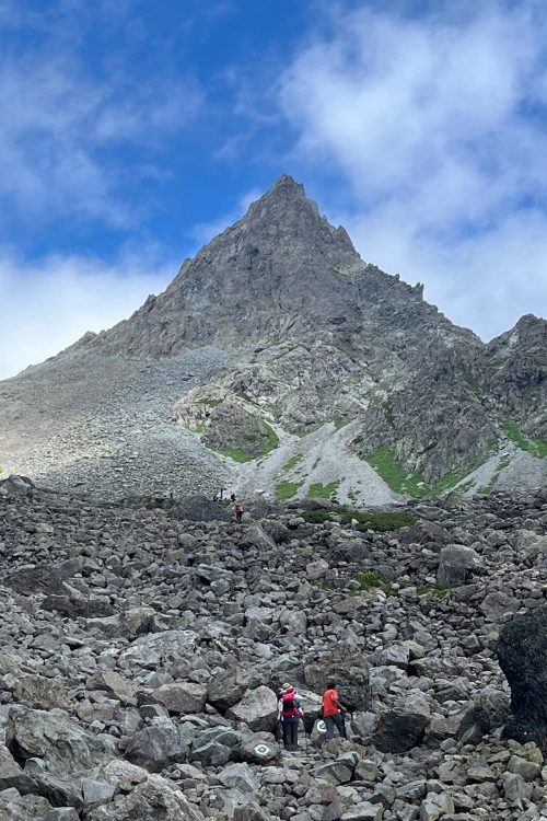
[(489, 337), (547, 315), (542, 8), (386, 9), (336, 7), (283, 73), (302, 173), (341, 173), (351, 194), (329, 210), (365, 258), (424, 281), (458, 323)]

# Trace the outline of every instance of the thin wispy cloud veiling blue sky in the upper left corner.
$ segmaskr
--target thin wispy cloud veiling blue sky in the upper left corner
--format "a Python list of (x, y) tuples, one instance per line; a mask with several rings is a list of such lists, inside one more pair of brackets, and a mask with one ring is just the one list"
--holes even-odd
[[(15, 12), (10, 19), (23, 25)], [(128, 180), (194, 122), (200, 90), (168, 72), (128, 76), (121, 47), (116, 65), (91, 71), (73, 21), (44, 12), (32, 25), (39, 46), (0, 55), (0, 207), (46, 223), (75, 217), (133, 224)], [(144, 151), (138, 162), (136, 148)]]

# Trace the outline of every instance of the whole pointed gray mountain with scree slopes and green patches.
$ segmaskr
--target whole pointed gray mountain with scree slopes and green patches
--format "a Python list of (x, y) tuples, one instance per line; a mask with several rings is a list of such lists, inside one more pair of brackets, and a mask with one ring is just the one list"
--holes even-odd
[(0, 385), (0, 463), (118, 496), (538, 486), (546, 342), (525, 316), (485, 345), (283, 176), (129, 320)]

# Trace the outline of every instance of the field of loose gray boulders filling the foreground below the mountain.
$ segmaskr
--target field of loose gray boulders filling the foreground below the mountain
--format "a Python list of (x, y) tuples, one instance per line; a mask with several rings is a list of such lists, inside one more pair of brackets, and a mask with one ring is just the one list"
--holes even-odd
[(0, 483), (0, 819), (547, 818), (547, 492), (248, 509)]

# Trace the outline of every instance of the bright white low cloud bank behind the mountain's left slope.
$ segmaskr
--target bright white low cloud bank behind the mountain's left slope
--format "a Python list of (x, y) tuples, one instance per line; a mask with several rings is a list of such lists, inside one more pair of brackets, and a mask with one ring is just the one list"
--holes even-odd
[(128, 252), (110, 265), (78, 256), (33, 265), (0, 252), (0, 379), (58, 354), (86, 331), (127, 319), (151, 291), (166, 287), (177, 267), (153, 248)]

